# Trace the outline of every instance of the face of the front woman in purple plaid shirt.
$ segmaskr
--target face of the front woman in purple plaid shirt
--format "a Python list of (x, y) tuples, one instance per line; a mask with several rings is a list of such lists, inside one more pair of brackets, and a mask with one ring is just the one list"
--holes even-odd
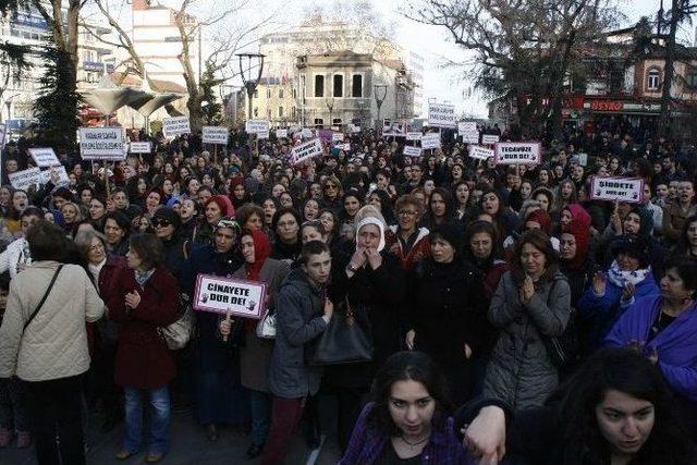
[(436, 401), (420, 382), (394, 382), (388, 405), (392, 421), (403, 436), (420, 438), (431, 428)]

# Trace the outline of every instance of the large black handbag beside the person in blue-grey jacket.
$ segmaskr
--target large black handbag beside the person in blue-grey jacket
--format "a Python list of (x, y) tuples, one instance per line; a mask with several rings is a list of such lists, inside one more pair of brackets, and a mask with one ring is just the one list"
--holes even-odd
[(341, 365), (369, 362), (375, 350), (365, 309), (354, 311), (348, 297), (334, 309), (315, 345), (310, 365)]

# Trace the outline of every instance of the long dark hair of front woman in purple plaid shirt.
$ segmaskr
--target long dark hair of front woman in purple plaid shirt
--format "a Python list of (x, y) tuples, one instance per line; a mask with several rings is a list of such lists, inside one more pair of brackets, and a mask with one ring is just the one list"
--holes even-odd
[(380, 435), (399, 436), (401, 432), (390, 415), (392, 386), (398, 381), (416, 381), (424, 386), (436, 402), (432, 423), (436, 428), (445, 427), (445, 418), (452, 413), (445, 377), (433, 360), (423, 352), (403, 351), (391, 355), (376, 374), (371, 397), (374, 408), (368, 415), (368, 427)]

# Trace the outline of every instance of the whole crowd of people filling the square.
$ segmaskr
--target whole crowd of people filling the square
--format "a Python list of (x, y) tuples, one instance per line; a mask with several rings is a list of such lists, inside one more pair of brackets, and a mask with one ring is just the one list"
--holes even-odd
[[(309, 448), (335, 427), (342, 464), (696, 462), (683, 147), (574, 132), (509, 166), (448, 132), (412, 158), (364, 131), (294, 164), (298, 137), (212, 155), (199, 135), (154, 137), (110, 167), (63, 156), (69, 182), (52, 170), (27, 191), (8, 174), (33, 161), (8, 146), (0, 449), (85, 463), (98, 417), (124, 423), (117, 458), (156, 463), (191, 409), (209, 441), (248, 433), (261, 464), (301, 425)], [(644, 195), (591, 198), (591, 176), (643, 179)], [(199, 274), (265, 283), (264, 318), (194, 311), (171, 350)]]

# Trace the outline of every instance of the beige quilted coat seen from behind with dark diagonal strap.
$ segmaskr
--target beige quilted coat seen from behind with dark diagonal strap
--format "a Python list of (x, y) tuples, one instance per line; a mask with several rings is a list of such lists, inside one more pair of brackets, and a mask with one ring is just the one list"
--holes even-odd
[(81, 375), (89, 368), (86, 321), (105, 313), (95, 285), (77, 265), (65, 265), (44, 306), (24, 323), (46, 293), (58, 261), (36, 261), (10, 282), (0, 327), (0, 378), (47, 381)]

